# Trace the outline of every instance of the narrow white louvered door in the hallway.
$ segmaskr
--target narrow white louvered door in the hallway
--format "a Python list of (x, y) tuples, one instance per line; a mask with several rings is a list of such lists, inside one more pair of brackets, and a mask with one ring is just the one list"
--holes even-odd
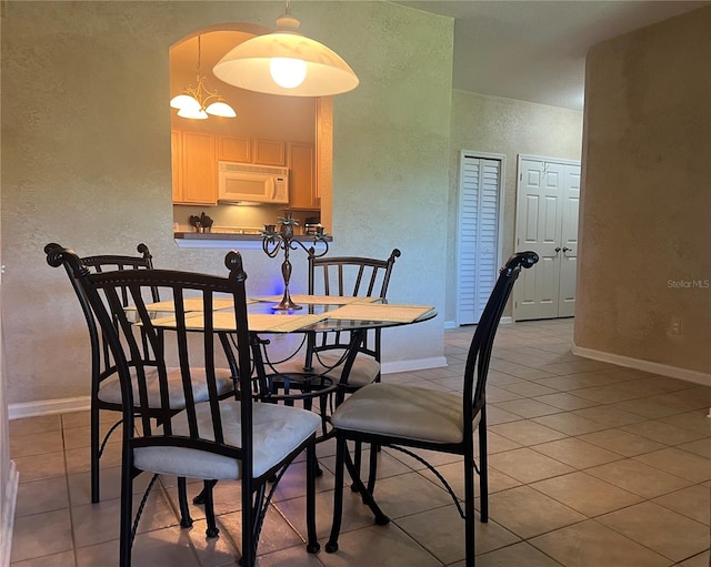
[(479, 323), (499, 269), (503, 156), (462, 152), (459, 176), (457, 323)]

